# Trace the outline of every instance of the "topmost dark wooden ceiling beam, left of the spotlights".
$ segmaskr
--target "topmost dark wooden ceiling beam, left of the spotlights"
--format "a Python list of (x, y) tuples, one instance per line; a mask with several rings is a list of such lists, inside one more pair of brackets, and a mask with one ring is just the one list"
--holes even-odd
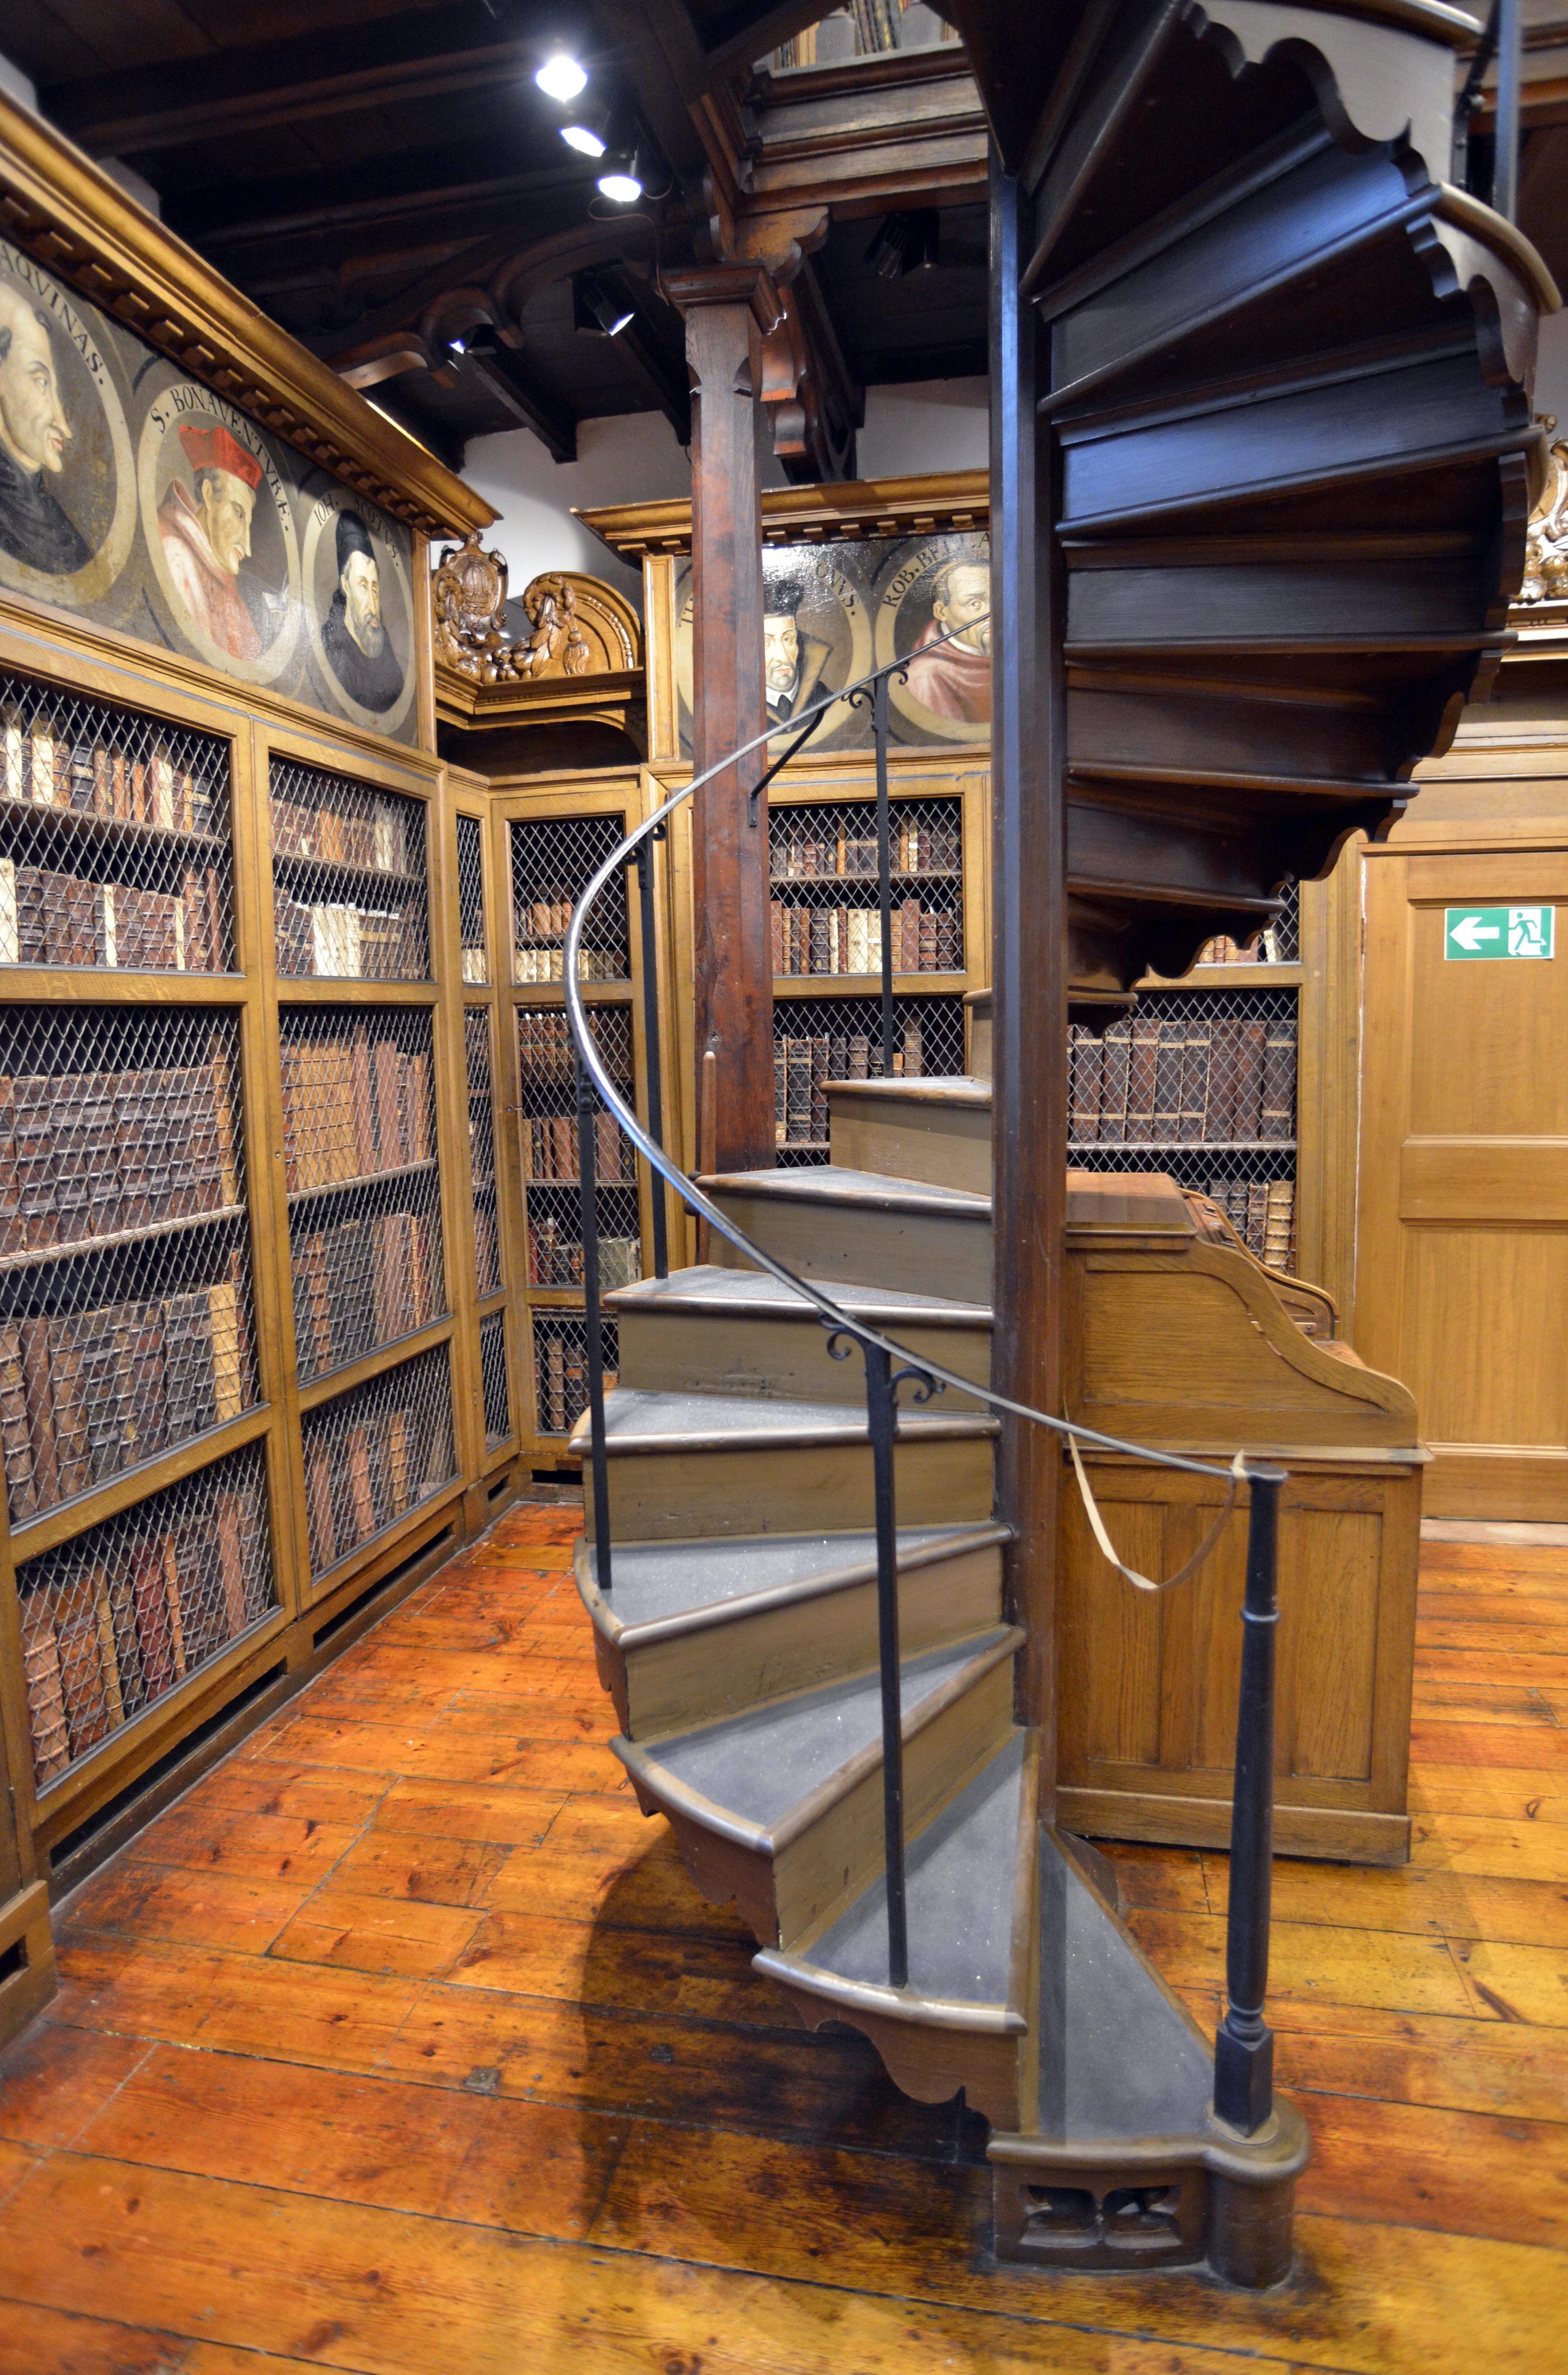
[[(532, 28), (532, 26), (530, 26)], [(50, 83), (40, 104), (93, 157), (145, 157), (366, 107), (409, 107), (516, 76), (532, 97), (535, 45), (473, 7), (261, 40), (209, 57)]]

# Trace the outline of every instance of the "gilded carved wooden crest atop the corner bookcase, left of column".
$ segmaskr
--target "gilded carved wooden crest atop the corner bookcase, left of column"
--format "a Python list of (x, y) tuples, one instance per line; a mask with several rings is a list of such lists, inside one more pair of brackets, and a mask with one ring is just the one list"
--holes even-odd
[(537, 684), (641, 667), (641, 625), (625, 596), (580, 570), (546, 570), (523, 591), (530, 634), (504, 625), (506, 560), (478, 534), (442, 553), (432, 580), (435, 665), (473, 684)]

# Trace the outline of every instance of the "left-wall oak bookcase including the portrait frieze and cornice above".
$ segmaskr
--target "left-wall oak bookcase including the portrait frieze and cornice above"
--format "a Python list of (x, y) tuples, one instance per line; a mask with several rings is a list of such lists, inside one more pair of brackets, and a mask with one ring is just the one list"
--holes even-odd
[[(428, 539), (489, 508), (7, 100), (0, 197), (93, 556), (0, 558), (5, 2038), (52, 1988), (50, 1895), (518, 1463), (485, 1432), (425, 603)], [(223, 601), (169, 560), (202, 468), (254, 496), (254, 570), (207, 546)], [(349, 508), (385, 712), (328, 648)]]

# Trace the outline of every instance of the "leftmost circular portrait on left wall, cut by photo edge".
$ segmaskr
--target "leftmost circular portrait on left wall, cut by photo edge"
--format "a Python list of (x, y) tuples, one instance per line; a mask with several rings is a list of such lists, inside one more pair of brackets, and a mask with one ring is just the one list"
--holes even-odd
[(126, 413), (97, 316), (0, 245), (0, 582), (100, 601), (131, 551)]

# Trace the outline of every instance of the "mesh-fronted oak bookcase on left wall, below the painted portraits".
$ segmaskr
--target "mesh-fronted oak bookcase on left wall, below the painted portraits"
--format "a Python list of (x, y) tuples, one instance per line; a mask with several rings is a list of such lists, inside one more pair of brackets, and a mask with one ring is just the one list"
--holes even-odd
[[(50, 926), (78, 933), (0, 967), (7, 1159), (19, 1126), (26, 1147), (0, 1218), (0, 1720), (21, 1876), (64, 1886), (513, 1480), (499, 1064), (473, 1062), (501, 995), (494, 900), (475, 943), (461, 879), (487, 803), (430, 755), (12, 618), (0, 679), (29, 743), (0, 867), (48, 857)], [(166, 770), (157, 810), (36, 798), (36, 720)], [(192, 853), (211, 881), (176, 940), (143, 910)]]

